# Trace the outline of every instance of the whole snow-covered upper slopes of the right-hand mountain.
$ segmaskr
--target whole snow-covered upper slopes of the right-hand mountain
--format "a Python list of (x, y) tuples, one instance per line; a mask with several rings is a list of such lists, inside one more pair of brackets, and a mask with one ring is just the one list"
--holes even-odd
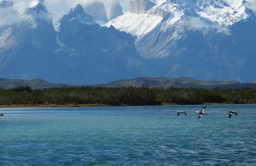
[[(150, 0), (156, 5), (146, 14), (126, 13), (108, 22), (120, 31), (131, 33), (137, 39), (155, 28), (165, 31), (172, 26), (203, 31), (214, 30), (230, 35), (229, 26), (249, 17), (255, 17), (244, 0)], [(135, 6), (137, 8), (137, 6)], [(162, 18), (161, 18), (161, 17)], [(162, 21), (163, 20), (163, 21)]]

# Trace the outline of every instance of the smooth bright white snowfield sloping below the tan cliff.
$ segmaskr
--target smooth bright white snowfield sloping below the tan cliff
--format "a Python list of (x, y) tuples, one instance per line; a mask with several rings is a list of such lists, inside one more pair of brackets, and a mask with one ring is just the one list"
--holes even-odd
[[(113, 25), (116, 29), (128, 32), (133, 37), (136, 36), (139, 39), (144, 34), (152, 31), (162, 19), (163, 18), (159, 15), (135, 14), (128, 12), (104, 24), (104, 26), (110, 27)], [(134, 24), (135, 22), (137, 24)]]

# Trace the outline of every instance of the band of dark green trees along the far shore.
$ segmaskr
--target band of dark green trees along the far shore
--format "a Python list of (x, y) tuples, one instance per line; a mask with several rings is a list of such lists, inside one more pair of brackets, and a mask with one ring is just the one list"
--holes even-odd
[(118, 105), (200, 105), (203, 103), (256, 103), (256, 89), (247, 87), (236, 89), (214, 88), (150, 88), (124, 86), (109, 87), (55, 87), (32, 90), (29, 86), (0, 89), (0, 105), (33, 105), (39, 102), (56, 105), (103, 104)]

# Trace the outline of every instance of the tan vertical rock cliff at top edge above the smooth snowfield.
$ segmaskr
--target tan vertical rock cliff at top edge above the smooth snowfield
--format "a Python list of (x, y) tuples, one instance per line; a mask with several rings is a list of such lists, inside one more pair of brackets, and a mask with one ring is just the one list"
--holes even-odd
[(145, 14), (156, 4), (150, 0), (132, 0), (130, 2), (130, 13)]

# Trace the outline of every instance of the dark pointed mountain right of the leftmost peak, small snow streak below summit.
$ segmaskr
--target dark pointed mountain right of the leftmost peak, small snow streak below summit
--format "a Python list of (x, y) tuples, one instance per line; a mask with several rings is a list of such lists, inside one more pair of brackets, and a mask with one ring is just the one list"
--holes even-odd
[[(82, 13), (81, 5), (62, 17), (59, 40), (62, 44), (56, 50), (56, 56), (83, 75), (79, 79), (84, 82), (94, 84), (134, 75), (157, 74), (140, 57), (130, 34), (113, 26), (101, 27)], [(63, 53), (68, 56), (63, 57)]]

